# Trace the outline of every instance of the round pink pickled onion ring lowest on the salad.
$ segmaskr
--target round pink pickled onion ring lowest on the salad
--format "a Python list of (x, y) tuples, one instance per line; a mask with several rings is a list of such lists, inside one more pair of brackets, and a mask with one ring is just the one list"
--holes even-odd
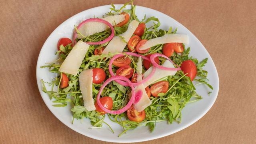
[[(105, 86), (106, 86), (109, 82), (111, 82), (111, 81), (113, 81), (113, 80), (124, 80), (124, 81), (126, 81), (126, 82), (128, 83), (128, 85), (132, 88), (132, 97), (130, 98), (130, 100), (129, 100), (129, 102), (126, 104), (126, 106), (124, 106), (124, 107), (121, 108), (120, 110), (114, 110), (114, 111), (108, 110), (108, 109), (104, 108), (104, 106), (102, 106), (102, 104), (101, 104), (101, 102), (100, 102), (100, 94), (102, 93), (102, 90), (105, 88)], [(128, 78), (126, 78), (126, 77), (124, 77), (124, 76), (112, 76), (111, 78), (108, 78), (108, 79), (102, 84), (102, 86), (100, 87), (100, 90), (99, 90), (99, 92), (98, 92), (98, 95), (97, 95), (96, 100), (97, 100), (98, 106), (99, 106), (102, 110), (104, 110), (104, 112), (107, 112), (107, 113), (110, 113), (110, 114), (122, 114), (123, 112), (125, 112), (126, 110), (128, 110), (128, 109), (132, 106), (132, 104), (134, 103), (134, 100), (135, 100), (134, 86), (132, 86), (132, 82), (131, 82)]]

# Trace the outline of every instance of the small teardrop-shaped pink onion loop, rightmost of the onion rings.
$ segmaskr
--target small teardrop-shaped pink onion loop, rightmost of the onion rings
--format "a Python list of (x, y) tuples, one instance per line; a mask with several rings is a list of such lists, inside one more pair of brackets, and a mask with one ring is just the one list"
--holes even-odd
[[(161, 57), (164, 57), (166, 58), (167, 60), (169, 60), (170, 62), (172, 62), (172, 64), (174, 64), (175, 66), (177, 66), (178, 68), (166, 68), (164, 66), (160, 66), (159, 64), (157, 64), (154, 59), (157, 57), (157, 56), (161, 56)], [(154, 53), (150, 56), (150, 62), (153, 64), (153, 66), (155, 66), (156, 68), (159, 68), (159, 69), (162, 69), (162, 70), (181, 70), (181, 68), (175, 64), (170, 58), (168, 58), (167, 56), (165, 56), (164, 54), (159, 54), (159, 53)]]

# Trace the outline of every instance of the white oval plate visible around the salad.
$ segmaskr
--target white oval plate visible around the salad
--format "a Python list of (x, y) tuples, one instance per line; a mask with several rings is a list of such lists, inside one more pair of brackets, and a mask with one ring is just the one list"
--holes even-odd
[[(122, 5), (117, 4), (115, 6), (116, 8), (120, 8)], [(208, 110), (214, 104), (219, 90), (218, 73), (214, 62), (212, 61), (212, 58), (210, 57), (204, 46), (201, 44), (201, 42), (196, 38), (196, 36), (194, 36), (187, 28), (182, 26), (182, 24), (180, 24), (170, 16), (167, 16), (166, 14), (142, 6), (136, 6), (136, 15), (138, 16), (139, 20), (142, 20), (144, 18), (144, 14), (146, 14), (148, 18), (151, 16), (155, 16), (161, 22), (161, 29), (168, 30), (170, 26), (172, 26), (174, 29), (178, 27), (177, 33), (189, 35), (190, 43), (189, 45), (186, 45), (186, 47), (190, 46), (190, 56), (197, 58), (199, 61), (203, 60), (204, 58), (208, 58), (208, 62), (204, 69), (208, 71), (207, 78), (210, 80), (209, 83), (212, 85), (214, 90), (212, 91), (207, 86), (202, 84), (196, 86), (198, 94), (200, 94), (203, 99), (197, 102), (187, 104), (183, 108), (182, 121), (180, 124), (178, 124), (177, 122), (173, 122), (172, 124), (167, 124), (167, 122), (159, 122), (156, 123), (155, 130), (152, 133), (150, 133), (148, 127), (138, 127), (134, 130), (127, 131), (126, 134), (123, 134), (121, 137), (118, 137), (118, 135), (122, 132), (122, 127), (114, 122), (111, 122), (107, 117), (105, 118), (105, 122), (110, 124), (115, 132), (114, 134), (110, 132), (110, 129), (105, 124), (100, 129), (89, 129), (90, 127), (92, 127), (92, 125), (90, 124), (90, 120), (88, 120), (87, 118), (84, 118), (82, 123), (81, 120), (74, 120), (74, 124), (72, 124), (72, 112), (70, 111), (71, 105), (68, 105), (64, 108), (52, 106), (53, 103), (50, 101), (48, 95), (42, 91), (42, 84), (40, 83), (40, 80), (43, 79), (46, 82), (50, 82), (52, 78), (54, 78), (56, 75), (54, 73), (50, 73), (48, 68), (40, 68), (40, 66), (45, 65), (46, 62), (56, 60), (57, 56), (54, 55), (54, 53), (57, 50), (58, 40), (63, 37), (72, 38), (74, 24), (78, 25), (83, 20), (86, 20), (87, 18), (92, 18), (93, 16), (102, 17), (103, 14), (109, 12), (109, 8), (110, 5), (99, 6), (96, 8), (85, 10), (72, 16), (71, 18), (60, 24), (60, 26), (58, 26), (52, 32), (52, 34), (50, 34), (50, 36), (44, 43), (38, 56), (36, 66), (36, 79), (40, 94), (46, 106), (48, 106), (54, 116), (56, 116), (66, 126), (71, 128), (72, 130), (75, 130), (76, 132), (79, 132), (80, 134), (107, 142), (142, 142), (146, 140), (161, 138), (178, 132), (202, 118), (202, 116), (204, 116), (204, 114), (206, 114), (206, 112), (208, 112)], [(126, 9), (130, 8), (130, 5), (126, 6)], [(48, 90), (50, 90), (50, 87), (48, 87)], [(210, 91), (212, 91), (212, 93), (210, 94), (210, 96), (208, 96), (208, 92)]]

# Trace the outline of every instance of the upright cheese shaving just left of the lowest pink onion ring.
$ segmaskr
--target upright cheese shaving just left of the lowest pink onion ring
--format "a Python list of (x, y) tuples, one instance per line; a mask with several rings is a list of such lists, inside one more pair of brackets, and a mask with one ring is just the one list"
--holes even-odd
[(84, 99), (84, 107), (89, 112), (96, 110), (92, 98), (92, 69), (84, 70), (79, 74), (79, 86)]

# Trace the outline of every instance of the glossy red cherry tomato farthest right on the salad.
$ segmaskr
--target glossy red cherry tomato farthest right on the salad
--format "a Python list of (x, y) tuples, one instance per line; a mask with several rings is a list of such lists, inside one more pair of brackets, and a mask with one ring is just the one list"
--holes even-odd
[(181, 70), (186, 76), (190, 77), (190, 80), (194, 80), (196, 77), (196, 64), (192, 60), (186, 60), (180, 65)]

